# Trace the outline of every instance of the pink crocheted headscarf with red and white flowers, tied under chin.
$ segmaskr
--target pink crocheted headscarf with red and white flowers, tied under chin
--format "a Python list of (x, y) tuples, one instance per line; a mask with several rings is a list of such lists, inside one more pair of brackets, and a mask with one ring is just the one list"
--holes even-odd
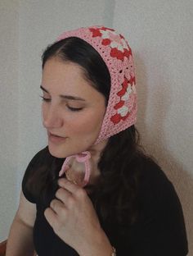
[[(98, 144), (102, 140), (127, 129), (137, 121), (137, 92), (132, 50), (122, 34), (118, 34), (115, 30), (102, 25), (67, 31), (61, 34), (57, 41), (70, 37), (78, 37), (91, 44), (101, 55), (110, 71), (110, 97), (101, 131), (96, 139), (95, 144)], [(88, 183), (89, 152), (86, 151), (71, 157), (76, 157), (79, 162), (85, 162), (84, 181), (85, 184)], [(60, 176), (71, 157), (65, 159)]]

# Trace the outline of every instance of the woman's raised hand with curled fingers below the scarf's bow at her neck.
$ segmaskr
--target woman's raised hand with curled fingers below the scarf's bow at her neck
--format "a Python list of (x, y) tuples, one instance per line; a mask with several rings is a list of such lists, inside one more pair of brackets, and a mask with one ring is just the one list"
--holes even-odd
[(100, 244), (101, 240), (110, 250), (109, 240), (101, 229), (87, 192), (65, 178), (61, 178), (58, 184), (61, 188), (56, 191), (57, 199), (52, 200), (50, 208), (44, 213), (56, 235), (76, 249), (79, 254), (92, 255), (89, 252), (99, 247), (97, 244)]

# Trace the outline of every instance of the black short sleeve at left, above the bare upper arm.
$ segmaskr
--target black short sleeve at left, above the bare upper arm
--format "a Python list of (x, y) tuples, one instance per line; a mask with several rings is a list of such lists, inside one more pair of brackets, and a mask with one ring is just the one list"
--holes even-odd
[(34, 176), (34, 172), (38, 171), (38, 166), (40, 162), (43, 162), (43, 158), (45, 153), (47, 153), (48, 149), (47, 147), (45, 149), (42, 149), (36, 155), (32, 160), (29, 162), (28, 167), (26, 168), (25, 175), (23, 177), (21, 187), (22, 187), (22, 192), (25, 195), (25, 198), (30, 202), (30, 203), (37, 203), (37, 197), (32, 193), (30, 190), (30, 186), (27, 185), (30, 179)]

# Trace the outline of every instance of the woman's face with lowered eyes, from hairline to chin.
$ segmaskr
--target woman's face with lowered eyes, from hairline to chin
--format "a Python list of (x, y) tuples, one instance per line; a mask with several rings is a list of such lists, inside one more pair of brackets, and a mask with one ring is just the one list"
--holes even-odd
[(43, 126), (56, 158), (89, 150), (105, 116), (105, 97), (84, 79), (73, 62), (49, 59), (43, 67)]

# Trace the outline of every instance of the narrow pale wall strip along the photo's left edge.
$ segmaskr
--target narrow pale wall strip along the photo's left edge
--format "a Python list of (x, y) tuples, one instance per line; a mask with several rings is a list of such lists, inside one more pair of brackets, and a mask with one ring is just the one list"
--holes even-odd
[(18, 5), (0, 1), (0, 240), (16, 212), (18, 149)]

